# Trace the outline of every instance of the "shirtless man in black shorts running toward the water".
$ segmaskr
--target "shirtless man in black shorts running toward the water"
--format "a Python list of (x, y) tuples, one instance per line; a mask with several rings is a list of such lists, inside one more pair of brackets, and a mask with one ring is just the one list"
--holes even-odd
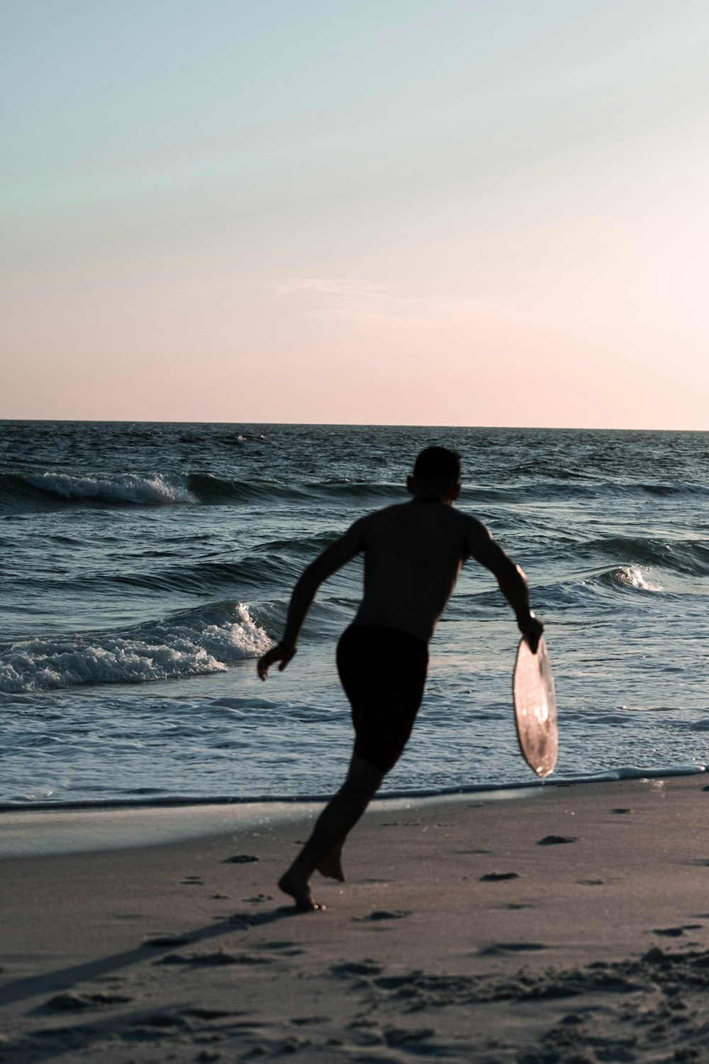
[(286, 668), (320, 584), (364, 553), (364, 597), (337, 647), (337, 669), (352, 704), (354, 753), (344, 783), (278, 881), (300, 909), (324, 908), (310, 892), (316, 868), (344, 881), (344, 839), (408, 739), (423, 696), (428, 642), (467, 559), (472, 555), (497, 578), (534, 651), (543, 630), (529, 609), (522, 569), (485, 525), (453, 508), (460, 492), (457, 452), (426, 448), (406, 487), (412, 496), (409, 502), (355, 521), (308, 565), (296, 584), (282, 642), (258, 662), (261, 680), (271, 665), (277, 663), (280, 671)]

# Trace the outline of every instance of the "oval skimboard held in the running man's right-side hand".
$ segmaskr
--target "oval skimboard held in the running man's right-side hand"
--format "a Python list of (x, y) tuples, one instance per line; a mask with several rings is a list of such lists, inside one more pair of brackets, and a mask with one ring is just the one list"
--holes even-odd
[(520, 639), (512, 679), (514, 721), (522, 757), (544, 779), (554, 771), (559, 751), (556, 724), (554, 676), (544, 636), (534, 654), (524, 638)]

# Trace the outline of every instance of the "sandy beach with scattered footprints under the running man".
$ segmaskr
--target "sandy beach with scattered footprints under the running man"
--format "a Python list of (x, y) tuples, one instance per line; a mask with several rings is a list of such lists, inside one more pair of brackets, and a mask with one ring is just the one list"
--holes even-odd
[(0, 1060), (709, 1060), (708, 811), (703, 774), (376, 802), (314, 913), (307, 817), (28, 814), (123, 845), (0, 861)]

